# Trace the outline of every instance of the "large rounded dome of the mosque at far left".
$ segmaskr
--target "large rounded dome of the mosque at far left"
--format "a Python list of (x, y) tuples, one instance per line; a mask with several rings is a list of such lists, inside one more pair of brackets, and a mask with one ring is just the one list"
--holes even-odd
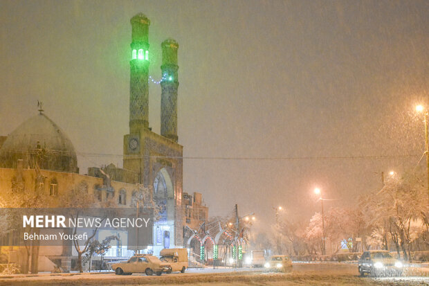
[(42, 112), (19, 125), (1, 145), (2, 168), (17, 168), (19, 159), (24, 168), (79, 172), (69, 137)]

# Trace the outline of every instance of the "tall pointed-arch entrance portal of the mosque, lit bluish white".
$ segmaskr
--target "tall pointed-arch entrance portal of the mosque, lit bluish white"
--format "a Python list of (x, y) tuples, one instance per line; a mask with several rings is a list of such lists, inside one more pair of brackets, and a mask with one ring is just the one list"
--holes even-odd
[(154, 201), (160, 207), (154, 224), (154, 254), (164, 248), (174, 248), (174, 186), (165, 168), (154, 178)]

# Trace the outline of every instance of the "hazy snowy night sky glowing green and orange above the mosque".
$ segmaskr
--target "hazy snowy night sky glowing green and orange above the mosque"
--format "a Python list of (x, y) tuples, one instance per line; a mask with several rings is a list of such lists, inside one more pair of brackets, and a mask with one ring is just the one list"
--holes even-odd
[[(414, 107), (429, 106), (429, 2), (417, 0), (1, 0), (0, 135), (37, 114), (41, 100), (82, 174), (122, 167), (129, 19), (138, 12), (151, 21), (153, 78), (161, 42), (179, 42), (179, 143), (194, 158), (184, 160), (183, 189), (202, 193), (210, 215), (230, 215), (237, 203), (260, 225), (274, 222), (279, 205), (290, 219), (308, 218), (320, 208), (316, 186), (336, 199), (327, 208), (353, 204), (381, 187), (380, 172), (419, 161)], [(160, 106), (151, 83), (157, 133)], [(380, 155), (413, 156), (338, 159)]]

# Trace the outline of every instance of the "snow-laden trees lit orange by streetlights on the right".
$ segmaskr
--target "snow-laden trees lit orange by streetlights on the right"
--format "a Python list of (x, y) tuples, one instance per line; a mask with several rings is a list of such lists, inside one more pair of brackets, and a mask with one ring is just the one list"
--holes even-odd
[[(342, 247), (350, 252), (365, 249), (397, 251), (408, 260), (411, 251), (429, 250), (429, 207), (423, 172), (392, 176), (381, 190), (356, 199), (354, 206), (334, 207), (325, 213), (325, 241), (332, 254)], [(283, 251), (291, 256), (322, 253), (322, 215), (309, 222), (284, 219), (276, 233)], [(267, 246), (268, 247), (268, 246)]]

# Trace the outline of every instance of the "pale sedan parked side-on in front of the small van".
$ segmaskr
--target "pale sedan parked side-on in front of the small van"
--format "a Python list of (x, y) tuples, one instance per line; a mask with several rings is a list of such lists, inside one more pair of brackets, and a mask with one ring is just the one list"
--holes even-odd
[(154, 273), (160, 276), (163, 272), (170, 273), (172, 267), (162, 262), (151, 254), (136, 254), (129, 258), (127, 262), (114, 263), (111, 268), (116, 275), (131, 275), (133, 273), (145, 273), (152, 276)]

